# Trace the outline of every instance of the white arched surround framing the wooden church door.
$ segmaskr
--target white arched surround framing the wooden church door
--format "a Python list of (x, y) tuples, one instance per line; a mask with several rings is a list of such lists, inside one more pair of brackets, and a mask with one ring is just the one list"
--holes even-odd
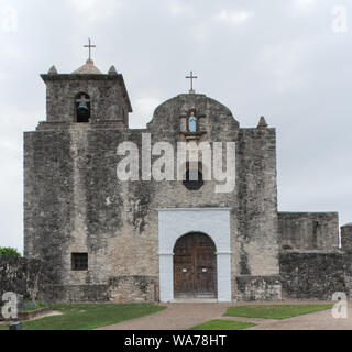
[(161, 301), (174, 300), (174, 248), (187, 233), (208, 234), (217, 246), (218, 301), (231, 301), (230, 208), (167, 208), (158, 211)]

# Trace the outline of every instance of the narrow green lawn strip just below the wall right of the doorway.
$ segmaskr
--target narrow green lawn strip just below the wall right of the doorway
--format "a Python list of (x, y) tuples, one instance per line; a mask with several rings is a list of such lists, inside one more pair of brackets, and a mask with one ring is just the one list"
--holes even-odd
[(226, 317), (244, 317), (261, 319), (287, 319), (310, 312), (331, 309), (333, 305), (261, 305), (230, 307)]

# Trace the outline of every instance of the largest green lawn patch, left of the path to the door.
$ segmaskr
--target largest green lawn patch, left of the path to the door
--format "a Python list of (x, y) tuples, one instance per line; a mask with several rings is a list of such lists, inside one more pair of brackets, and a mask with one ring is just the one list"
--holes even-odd
[[(53, 310), (61, 311), (62, 316), (24, 322), (23, 330), (91, 330), (164, 309), (166, 307), (153, 304), (53, 305)], [(9, 330), (9, 326), (0, 326), (0, 330)]]

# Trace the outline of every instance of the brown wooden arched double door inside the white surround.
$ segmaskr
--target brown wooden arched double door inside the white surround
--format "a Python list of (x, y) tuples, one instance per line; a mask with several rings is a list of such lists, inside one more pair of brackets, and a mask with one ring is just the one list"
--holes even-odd
[(180, 238), (174, 249), (175, 298), (217, 297), (217, 254), (213, 241), (204, 233)]

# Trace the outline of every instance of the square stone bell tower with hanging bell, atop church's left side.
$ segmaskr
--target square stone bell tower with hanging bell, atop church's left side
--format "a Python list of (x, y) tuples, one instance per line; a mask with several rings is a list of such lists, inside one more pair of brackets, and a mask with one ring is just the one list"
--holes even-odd
[(111, 66), (102, 74), (89, 58), (72, 74), (53, 66), (41, 75), (46, 84), (46, 121), (41, 128), (86, 123), (96, 128), (128, 129), (132, 106), (124, 79)]

